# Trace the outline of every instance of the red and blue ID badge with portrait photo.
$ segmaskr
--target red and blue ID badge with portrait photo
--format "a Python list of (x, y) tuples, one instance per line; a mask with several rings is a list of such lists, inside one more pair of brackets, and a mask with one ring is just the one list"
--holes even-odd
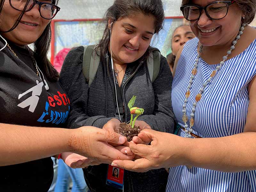
[(108, 165), (106, 184), (118, 189), (124, 189), (124, 169)]

